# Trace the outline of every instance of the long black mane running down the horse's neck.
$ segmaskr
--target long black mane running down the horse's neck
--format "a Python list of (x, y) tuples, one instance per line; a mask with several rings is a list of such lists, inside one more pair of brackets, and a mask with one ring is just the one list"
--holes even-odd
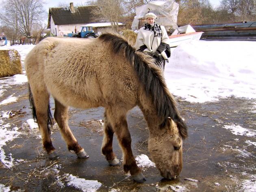
[(140, 82), (145, 85), (146, 94), (152, 95), (158, 116), (164, 117), (161, 127), (164, 127), (168, 117), (171, 117), (177, 123), (182, 138), (187, 138), (187, 125), (176, 108), (176, 102), (169, 93), (161, 70), (152, 64), (153, 59), (146, 54), (136, 52), (135, 47), (121, 35), (104, 33), (99, 39), (110, 43), (115, 54), (122, 54), (133, 65)]

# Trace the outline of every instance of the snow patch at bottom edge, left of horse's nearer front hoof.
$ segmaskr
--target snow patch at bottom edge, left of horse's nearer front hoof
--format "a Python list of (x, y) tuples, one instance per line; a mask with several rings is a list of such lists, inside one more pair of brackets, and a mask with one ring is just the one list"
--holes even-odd
[(95, 180), (86, 180), (69, 174), (67, 176), (67, 186), (72, 186), (83, 192), (96, 192), (102, 186), (100, 182)]

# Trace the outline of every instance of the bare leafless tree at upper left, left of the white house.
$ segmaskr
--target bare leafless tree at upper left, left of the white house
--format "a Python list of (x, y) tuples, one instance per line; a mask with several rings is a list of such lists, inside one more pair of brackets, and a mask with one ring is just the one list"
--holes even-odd
[(43, 0), (6, 0), (2, 4), (2, 23), (27, 38), (31, 37), (33, 26), (46, 17)]

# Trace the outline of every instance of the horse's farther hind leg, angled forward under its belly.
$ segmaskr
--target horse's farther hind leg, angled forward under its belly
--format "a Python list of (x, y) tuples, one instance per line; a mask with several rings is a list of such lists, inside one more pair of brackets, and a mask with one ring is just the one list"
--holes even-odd
[(61, 135), (67, 144), (67, 149), (69, 151), (74, 151), (78, 158), (88, 158), (89, 155), (87, 155), (87, 153), (85, 153), (85, 150), (80, 147), (68, 126), (68, 107), (63, 106), (56, 99), (54, 118), (61, 129)]

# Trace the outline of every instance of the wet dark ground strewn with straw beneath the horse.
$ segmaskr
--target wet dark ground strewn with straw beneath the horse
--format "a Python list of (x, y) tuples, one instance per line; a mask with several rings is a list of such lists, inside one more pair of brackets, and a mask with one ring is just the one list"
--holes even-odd
[[(19, 96), (16, 102), (0, 105), (0, 111), (12, 110), (15, 115), (11, 118), (1, 117), (2, 125), (9, 123), (6, 129), (17, 127), (20, 133), (0, 149), (0, 156), (6, 156), (0, 162), (2, 190), (4, 187), (11, 191), (28, 192), (95, 190), (72, 185), (68, 180), (71, 174), (84, 180), (97, 180), (101, 183), (97, 190), (99, 192), (253, 192), (256, 189), (256, 100), (225, 98), (204, 104), (178, 101), (180, 113), (189, 127), (189, 138), (183, 144), (180, 176), (169, 181), (161, 177), (156, 167), (142, 167), (147, 181), (135, 183), (129, 175), (125, 175), (122, 166), (108, 166), (100, 152), (103, 108), (71, 108), (69, 111), (70, 128), (90, 155), (89, 159), (80, 160), (70, 153), (61, 139), (58, 126), (54, 126), (52, 140), (60, 158), (48, 160), (38, 129), (31, 129), (26, 123), (27, 119), (32, 119), (27, 86), (26, 83), (9, 86), (0, 98), (1, 102), (10, 95)], [(51, 99), (52, 112), (53, 102)], [(139, 108), (128, 113), (128, 126), (134, 155), (145, 154), (150, 158), (147, 149), (149, 132)], [(241, 126), (247, 131), (234, 134), (227, 126)], [(121, 159), (116, 138), (113, 148)], [(12, 165), (8, 162), (12, 162)], [(7, 168), (8, 165), (10, 168)]]

